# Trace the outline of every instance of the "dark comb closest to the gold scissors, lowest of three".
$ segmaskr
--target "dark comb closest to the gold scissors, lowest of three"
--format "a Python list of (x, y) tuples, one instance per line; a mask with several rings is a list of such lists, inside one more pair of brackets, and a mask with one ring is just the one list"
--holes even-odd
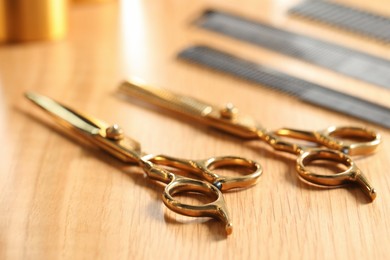
[(179, 58), (279, 90), (308, 103), (390, 128), (390, 108), (344, 94), (206, 46), (189, 47)]

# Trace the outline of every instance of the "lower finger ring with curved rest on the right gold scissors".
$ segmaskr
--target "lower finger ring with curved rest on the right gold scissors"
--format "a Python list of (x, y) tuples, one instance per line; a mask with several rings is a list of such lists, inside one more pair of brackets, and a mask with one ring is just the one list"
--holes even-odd
[[(347, 167), (343, 172), (336, 174), (319, 174), (308, 170), (308, 165), (314, 161), (330, 161), (335, 164), (341, 163)], [(304, 180), (309, 183), (324, 186), (341, 186), (350, 182), (357, 183), (362, 191), (373, 201), (376, 198), (376, 190), (368, 179), (356, 166), (352, 159), (336, 150), (313, 149), (302, 153), (297, 159), (297, 171)]]

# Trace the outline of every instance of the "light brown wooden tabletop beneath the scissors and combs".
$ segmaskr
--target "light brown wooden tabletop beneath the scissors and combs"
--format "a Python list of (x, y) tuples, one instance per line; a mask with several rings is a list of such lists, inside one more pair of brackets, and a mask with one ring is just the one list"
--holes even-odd
[[(389, 105), (390, 92), (194, 26), (206, 7), (390, 58), (390, 47), (286, 14), (297, 1), (109, 1), (74, 4), (59, 42), (0, 46), (0, 259), (386, 259), (390, 256), (390, 132), (287, 95), (176, 59), (207, 43), (280, 71)], [(386, 0), (345, 0), (390, 15)], [(378, 190), (319, 189), (301, 182), (294, 157), (118, 98), (119, 82), (152, 85), (214, 104), (234, 102), (264, 126), (363, 125), (383, 136), (355, 158)], [(234, 222), (183, 217), (163, 188), (63, 134), (23, 93), (37, 91), (110, 123), (145, 151), (184, 158), (240, 155), (259, 161), (258, 185), (225, 194)]]

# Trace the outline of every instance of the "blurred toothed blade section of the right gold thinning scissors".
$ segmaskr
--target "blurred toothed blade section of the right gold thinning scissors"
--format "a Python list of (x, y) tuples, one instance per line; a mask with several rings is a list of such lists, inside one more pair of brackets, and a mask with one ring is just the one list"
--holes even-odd
[(258, 125), (250, 116), (226, 115), (226, 108), (218, 108), (189, 96), (148, 86), (134, 77), (122, 82), (119, 90), (126, 96), (169, 109), (230, 134), (246, 139), (258, 138)]

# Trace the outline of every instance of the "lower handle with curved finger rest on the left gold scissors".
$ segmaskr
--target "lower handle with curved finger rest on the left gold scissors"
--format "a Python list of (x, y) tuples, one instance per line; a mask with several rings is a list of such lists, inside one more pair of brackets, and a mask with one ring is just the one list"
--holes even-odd
[[(226, 233), (232, 233), (233, 225), (225, 200), (216, 186), (202, 180), (175, 175), (151, 161), (142, 160), (141, 165), (150, 178), (167, 183), (162, 200), (169, 209), (185, 216), (218, 219), (225, 224)], [(212, 201), (203, 205), (191, 205), (174, 198), (175, 195), (185, 193), (203, 195)]]

